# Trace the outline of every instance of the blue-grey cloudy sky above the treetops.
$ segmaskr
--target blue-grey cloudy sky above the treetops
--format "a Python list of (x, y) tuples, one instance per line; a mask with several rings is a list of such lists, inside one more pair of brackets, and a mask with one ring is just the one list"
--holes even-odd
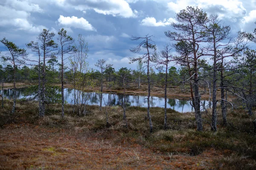
[[(256, 28), (256, 0), (0, 0), (0, 39), (6, 37), (26, 48), (44, 28), (55, 34), (64, 28), (75, 40), (82, 34), (88, 42), (90, 68), (96, 69), (97, 60), (105, 59), (116, 71), (136, 69), (129, 58), (139, 54), (129, 49), (138, 42), (130, 37), (153, 35), (157, 49), (162, 50), (170, 42), (164, 31), (172, 31), (176, 13), (186, 6), (218, 14), (222, 23), (230, 25), (232, 34)], [(6, 54), (2, 43), (0, 51)], [(36, 55), (27, 51), (35, 59)]]

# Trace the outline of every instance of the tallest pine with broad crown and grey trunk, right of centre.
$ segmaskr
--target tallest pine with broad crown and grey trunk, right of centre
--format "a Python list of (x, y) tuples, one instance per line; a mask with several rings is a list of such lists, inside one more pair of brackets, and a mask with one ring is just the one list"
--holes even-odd
[[(203, 130), (202, 117), (200, 111), (200, 100), (201, 96), (199, 94), (199, 79), (198, 79), (198, 59), (202, 56), (203, 48), (200, 48), (201, 42), (206, 40), (206, 36), (201, 34), (203, 25), (208, 22), (207, 14), (199, 8), (194, 8), (188, 6), (186, 9), (180, 11), (176, 14), (176, 20), (179, 23), (172, 23), (171, 26), (177, 32), (166, 31), (165, 34), (170, 40), (177, 41), (178, 43), (184, 44), (186, 46), (181, 46), (184, 50), (181, 50), (181, 56), (177, 57), (181, 63), (187, 63), (193, 65), (193, 81), (191, 83), (194, 91), (191, 89), (193, 107), (195, 109), (195, 119), (197, 124), (197, 130)], [(187, 42), (187, 43), (186, 43)], [(188, 46), (188, 45), (191, 45)], [(188, 50), (186, 50), (186, 48)], [(191, 48), (191, 49), (190, 49)], [(176, 49), (177, 50), (177, 49)], [(198, 53), (198, 50), (200, 53)], [(183, 53), (187, 51), (188, 53)], [(187, 62), (186, 55), (189, 55), (189, 62)]]

